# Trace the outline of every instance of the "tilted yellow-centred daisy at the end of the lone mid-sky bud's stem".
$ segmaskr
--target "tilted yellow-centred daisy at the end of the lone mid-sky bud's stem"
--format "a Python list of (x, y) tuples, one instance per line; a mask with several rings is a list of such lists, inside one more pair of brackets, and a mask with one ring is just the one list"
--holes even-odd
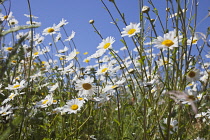
[(98, 49), (111, 49), (112, 48), (112, 44), (115, 42), (115, 38), (114, 37), (107, 37), (106, 39), (103, 39), (102, 42), (99, 44), (99, 46), (97, 47)]

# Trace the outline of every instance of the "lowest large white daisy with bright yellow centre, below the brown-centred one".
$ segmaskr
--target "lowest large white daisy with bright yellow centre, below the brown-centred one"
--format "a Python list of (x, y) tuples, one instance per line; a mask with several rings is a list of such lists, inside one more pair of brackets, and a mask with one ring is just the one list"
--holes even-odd
[(67, 112), (68, 114), (76, 114), (77, 111), (81, 110), (81, 107), (83, 106), (84, 101), (80, 99), (72, 99), (66, 102), (66, 105), (63, 107), (63, 112)]

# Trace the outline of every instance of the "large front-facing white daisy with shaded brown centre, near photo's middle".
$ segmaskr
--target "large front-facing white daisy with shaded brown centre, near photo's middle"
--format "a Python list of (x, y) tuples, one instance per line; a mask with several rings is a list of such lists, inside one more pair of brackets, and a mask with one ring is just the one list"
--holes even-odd
[(90, 77), (87, 77), (86, 79), (77, 80), (75, 89), (79, 90), (79, 97), (91, 98), (95, 94), (96, 87), (93, 85), (93, 81), (94, 79)]

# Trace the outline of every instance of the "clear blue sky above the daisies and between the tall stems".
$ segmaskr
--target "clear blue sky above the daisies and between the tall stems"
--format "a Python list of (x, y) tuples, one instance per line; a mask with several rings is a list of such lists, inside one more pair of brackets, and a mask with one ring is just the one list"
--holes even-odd
[[(138, 0), (115, 1), (121, 12), (125, 13), (128, 23), (139, 22)], [(160, 15), (164, 15), (161, 18), (165, 19), (166, 7), (164, 3), (166, 0), (153, 1), (159, 10)], [(120, 18), (116, 13), (113, 4), (108, 0), (104, 0), (104, 2), (106, 2), (115, 18)], [(8, 3), (9, 2), (5, 2), (7, 8)], [(52, 26), (54, 23), (58, 24), (59, 21), (64, 18), (69, 22), (69, 24), (65, 26), (68, 33), (70, 34), (72, 30), (76, 32), (74, 42), (76, 43), (79, 51), (89, 51), (92, 54), (101, 42), (100, 37), (94, 33), (94, 29), (89, 24), (89, 20), (94, 19), (95, 26), (101, 31), (104, 38), (108, 36), (116, 38), (116, 43), (114, 45), (116, 50), (123, 47), (123, 44), (119, 41), (120, 34), (116, 27), (110, 23), (112, 20), (107, 11), (103, 8), (104, 6), (100, 0), (30, 0), (30, 3), (32, 14), (39, 17), (36, 21), (42, 23), (42, 26), (37, 29), (38, 32), (42, 32), (43, 29)], [(146, 1), (145, 5), (150, 6)], [(200, 0), (198, 6), (198, 22), (208, 14), (209, 9), (210, 0)], [(27, 0), (11, 0), (11, 11), (13, 12), (15, 18), (19, 21), (19, 25), (24, 25), (28, 18), (23, 14), (29, 14)], [(3, 9), (2, 13), (4, 13)], [(152, 14), (152, 18), (155, 18), (154, 14)], [(199, 25), (199, 30), (197, 31), (205, 32), (208, 26), (210, 26), (210, 17)], [(124, 26), (121, 26), (121, 29), (123, 27)], [(171, 30), (173, 29), (171, 28)], [(66, 39), (64, 35), (63, 39)]]

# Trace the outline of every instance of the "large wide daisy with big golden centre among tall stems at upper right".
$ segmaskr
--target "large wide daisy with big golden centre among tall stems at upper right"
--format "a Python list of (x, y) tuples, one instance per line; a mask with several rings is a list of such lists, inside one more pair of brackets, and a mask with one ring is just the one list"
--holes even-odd
[(170, 31), (166, 34), (164, 34), (163, 37), (158, 36), (157, 39), (153, 41), (153, 44), (155, 44), (154, 47), (157, 47), (159, 49), (163, 48), (169, 48), (173, 49), (174, 47), (178, 47), (178, 38), (176, 37), (176, 31)]

